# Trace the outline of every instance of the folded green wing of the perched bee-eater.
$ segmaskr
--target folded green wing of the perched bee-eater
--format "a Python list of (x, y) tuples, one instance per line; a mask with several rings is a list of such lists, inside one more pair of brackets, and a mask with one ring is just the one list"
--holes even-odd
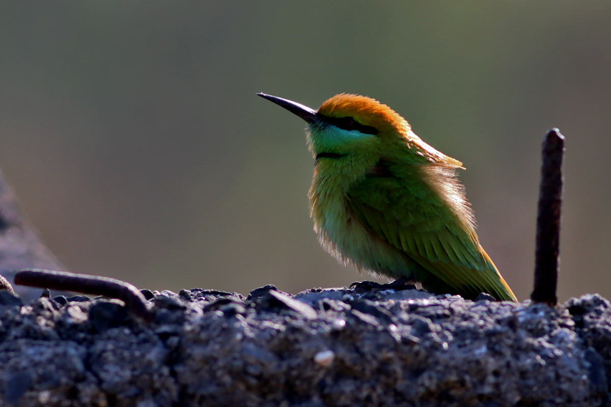
[(365, 227), (459, 293), (488, 292), (517, 301), (472, 226), (464, 225), (422, 177), (370, 175), (348, 190), (348, 201)]

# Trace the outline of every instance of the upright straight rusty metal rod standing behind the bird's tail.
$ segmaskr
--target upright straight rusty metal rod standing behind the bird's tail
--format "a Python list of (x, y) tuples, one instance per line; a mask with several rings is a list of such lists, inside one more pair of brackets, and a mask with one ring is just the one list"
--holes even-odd
[(536, 225), (535, 288), (530, 299), (555, 306), (558, 302), (558, 253), (562, 206), (562, 156), (565, 137), (551, 129), (543, 140), (543, 164)]

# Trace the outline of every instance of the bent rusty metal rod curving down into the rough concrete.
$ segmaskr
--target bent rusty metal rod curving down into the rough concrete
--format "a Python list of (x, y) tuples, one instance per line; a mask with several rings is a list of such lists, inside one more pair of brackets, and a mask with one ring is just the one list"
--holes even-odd
[(151, 313), (145, 305), (147, 300), (140, 290), (130, 283), (114, 278), (26, 268), (16, 273), (15, 284), (117, 298), (142, 319), (151, 318)]

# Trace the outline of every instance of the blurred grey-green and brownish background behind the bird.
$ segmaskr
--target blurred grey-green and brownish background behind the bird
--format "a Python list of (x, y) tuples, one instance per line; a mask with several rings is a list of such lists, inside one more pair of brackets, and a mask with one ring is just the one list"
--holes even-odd
[(483, 247), (533, 282), (540, 145), (566, 137), (559, 299), (611, 297), (611, 2), (0, 4), (0, 167), (67, 270), (296, 293), (370, 279), (316, 241), (304, 122), (371, 96), (463, 161)]

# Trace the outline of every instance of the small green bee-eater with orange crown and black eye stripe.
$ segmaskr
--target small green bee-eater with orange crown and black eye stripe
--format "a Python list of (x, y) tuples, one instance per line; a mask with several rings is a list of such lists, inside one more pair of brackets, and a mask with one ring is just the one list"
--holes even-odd
[(435, 294), (517, 301), (475, 234), (456, 178), (439, 153), (375, 99), (341, 93), (318, 110), (258, 93), (307, 121), (315, 157), (310, 215), (323, 248), (358, 270), (419, 282)]

